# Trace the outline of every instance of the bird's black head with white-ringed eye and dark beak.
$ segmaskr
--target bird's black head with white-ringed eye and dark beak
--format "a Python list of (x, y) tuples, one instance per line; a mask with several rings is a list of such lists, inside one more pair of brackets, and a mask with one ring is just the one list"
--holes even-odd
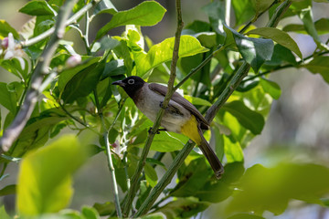
[(128, 78), (124, 78), (122, 80), (118, 80), (112, 83), (112, 85), (119, 85), (124, 89), (124, 91), (131, 97), (132, 99), (139, 93), (139, 90), (142, 89), (145, 81), (138, 76), (131, 76)]

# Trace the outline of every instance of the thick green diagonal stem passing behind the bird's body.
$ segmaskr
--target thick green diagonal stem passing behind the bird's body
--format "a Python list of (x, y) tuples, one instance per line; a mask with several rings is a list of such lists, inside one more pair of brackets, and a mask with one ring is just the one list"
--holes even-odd
[[(281, 8), (283, 7), (283, 9), (284, 7), (288, 8), (289, 6), (290, 6), (290, 0), (286, 0), (281, 4)], [(277, 17), (277, 19), (280, 19), (284, 11), (285, 10), (281, 10), (281, 13), (275, 14), (274, 16)], [(277, 24), (277, 22), (272, 23), (273, 26), (275, 26), (275, 24)], [(218, 100), (214, 103), (212, 107), (210, 107), (207, 110), (207, 114), (205, 118), (209, 123), (214, 119), (218, 110), (221, 108), (221, 106), (224, 105), (224, 103), (229, 98), (229, 96), (233, 93), (233, 91), (238, 88), (241, 80), (248, 74), (249, 68), (250, 68), (249, 64), (244, 62), (240, 66), (240, 68), (238, 69), (237, 73), (234, 75), (232, 80), (229, 82), (226, 89), (224, 89), (224, 91), (220, 94)], [(154, 186), (154, 189), (151, 191), (151, 193), (148, 195), (146, 200), (141, 205), (138, 212), (135, 214), (136, 217), (146, 214), (151, 209), (156, 199), (164, 191), (164, 188), (172, 181), (173, 177), (175, 176), (175, 172), (177, 172), (178, 168), (185, 161), (187, 155), (189, 154), (190, 151), (192, 151), (193, 147), (194, 147), (194, 143), (188, 141), (185, 147), (181, 151), (179, 151), (179, 153), (175, 157), (174, 162), (169, 167), (168, 171), (164, 173), (164, 176), (161, 178), (159, 183), (157, 183)]]

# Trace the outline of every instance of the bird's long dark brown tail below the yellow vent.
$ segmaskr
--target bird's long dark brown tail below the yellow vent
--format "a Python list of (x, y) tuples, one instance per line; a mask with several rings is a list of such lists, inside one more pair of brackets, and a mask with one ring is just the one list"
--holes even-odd
[(207, 158), (207, 161), (209, 162), (211, 168), (215, 172), (215, 175), (218, 179), (221, 178), (221, 175), (224, 173), (224, 167), (219, 162), (218, 156), (216, 155), (215, 151), (213, 151), (208, 144), (207, 140), (203, 136), (202, 130), (200, 128), (197, 128), (199, 135), (201, 137), (201, 142), (198, 145), (202, 153), (205, 155)]

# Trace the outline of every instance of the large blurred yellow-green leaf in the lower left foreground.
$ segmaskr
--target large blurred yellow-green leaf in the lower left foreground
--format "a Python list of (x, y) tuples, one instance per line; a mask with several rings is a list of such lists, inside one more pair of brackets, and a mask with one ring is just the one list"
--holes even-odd
[(87, 158), (82, 146), (74, 135), (65, 135), (24, 158), (17, 180), (19, 214), (56, 213), (67, 207), (73, 193), (71, 175)]

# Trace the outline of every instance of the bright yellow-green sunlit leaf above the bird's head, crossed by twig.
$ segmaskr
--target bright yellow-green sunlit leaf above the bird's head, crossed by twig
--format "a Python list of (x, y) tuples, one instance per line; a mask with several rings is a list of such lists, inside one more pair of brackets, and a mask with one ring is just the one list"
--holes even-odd
[[(147, 54), (143, 52), (134, 53), (133, 56), (135, 57), (137, 75), (143, 76), (152, 68), (171, 60), (173, 57), (174, 43), (175, 37), (171, 37), (151, 47)], [(178, 53), (179, 57), (189, 57), (207, 51), (208, 49), (202, 47), (195, 37), (181, 36)]]

